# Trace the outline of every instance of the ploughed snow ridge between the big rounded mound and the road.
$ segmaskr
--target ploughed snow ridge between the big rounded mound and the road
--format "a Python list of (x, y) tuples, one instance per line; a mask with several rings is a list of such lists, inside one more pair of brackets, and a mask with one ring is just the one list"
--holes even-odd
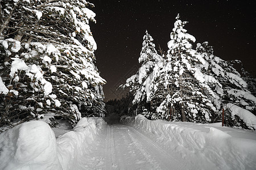
[[(101, 120), (101, 121), (100, 121)], [(82, 169), (82, 155), (86, 153), (88, 145), (92, 144), (97, 134), (97, 125), (102, 119), (82, 118), (76, 127), (57, 138), (58, 158), (63, 169)]]

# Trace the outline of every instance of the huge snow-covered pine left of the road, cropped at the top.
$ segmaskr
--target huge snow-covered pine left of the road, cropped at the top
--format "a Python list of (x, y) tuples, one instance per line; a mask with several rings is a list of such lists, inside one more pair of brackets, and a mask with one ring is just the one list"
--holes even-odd
[[(0, 124), (104, 112), (85, 0), (1, 1)], [(6, 91), (7, 87), (8, 91)], [(94, 106), (97, 106), (95, 109)]]

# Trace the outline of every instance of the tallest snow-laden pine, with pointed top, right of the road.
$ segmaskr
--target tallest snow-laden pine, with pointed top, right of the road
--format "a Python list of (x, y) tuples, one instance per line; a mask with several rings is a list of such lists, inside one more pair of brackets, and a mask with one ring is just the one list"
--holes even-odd
[[(214, 97), (209, 86), (205, 84), (203, 73), (197, 65), (204, 63), (204, 59), (192, 49), (195, 37), (189, 35), (179, 15), (176, 17), (171, 40), (168, 42), (167, 62), (170, 67), (169, 82), (164, 82), (166, 88), (172, 92), (160, 104), (157, 111), (166, 115), (167, 108), (174, 107), (175, 121), (210, 122), (216, 108), (210, 97)], [(163, 72), (164, 73), (164, 72)], [(163, 75), (160, 75), (163, 76)]]

